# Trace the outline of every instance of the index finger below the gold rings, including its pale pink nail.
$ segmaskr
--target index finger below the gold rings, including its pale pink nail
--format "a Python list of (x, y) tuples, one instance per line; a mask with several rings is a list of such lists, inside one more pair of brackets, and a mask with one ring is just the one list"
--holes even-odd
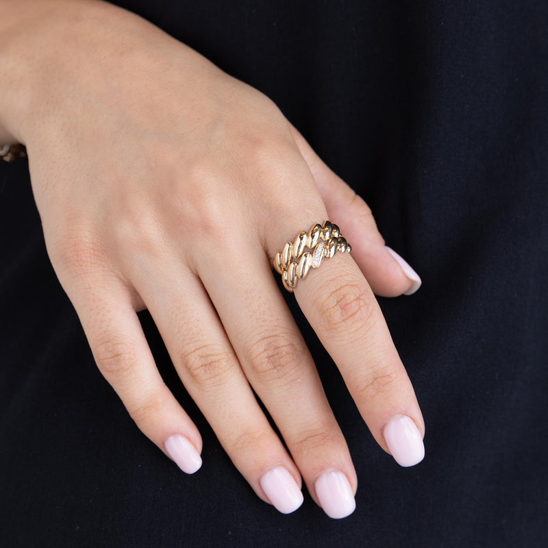
[(419, 403), (373, 291), (349, 253), (321, 260), (295, 286), (295, 297), (377, 443), (401, 466), (421, 462)]

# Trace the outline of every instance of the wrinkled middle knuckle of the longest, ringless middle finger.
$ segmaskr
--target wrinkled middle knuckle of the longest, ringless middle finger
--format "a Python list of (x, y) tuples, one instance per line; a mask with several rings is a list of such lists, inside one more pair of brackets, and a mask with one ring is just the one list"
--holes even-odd
[(262, 336), (251, 348), (253, 371), (263, 384), (293, 381), (301, 362), (301, 354), (289, 335)]

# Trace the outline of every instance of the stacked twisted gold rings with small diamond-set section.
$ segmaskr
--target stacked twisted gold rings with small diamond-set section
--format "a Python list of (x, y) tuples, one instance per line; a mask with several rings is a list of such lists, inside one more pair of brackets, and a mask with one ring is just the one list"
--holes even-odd
[(292, 292), (299, 279), (305, 279), (310, 269), (317, 269), (323, 258), (332, 258), (339, 251), (352, 251), (337, 225), (325, 221), (313, 225), (308, 232), (300, 232), (295, 241), (287, 242), (274, 257), (274, 269), (282, 275), (284, 288)]

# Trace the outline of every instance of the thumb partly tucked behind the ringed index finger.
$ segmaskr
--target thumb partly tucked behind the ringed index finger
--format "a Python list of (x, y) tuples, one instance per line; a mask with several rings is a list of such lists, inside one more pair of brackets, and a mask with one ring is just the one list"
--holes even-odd
[(329, 219), (352, 245), (352, 256), (376, 295), (411, 295), (421, 278), (393, 249), (384, 245), (371, 209), (319, 158), (305, 138), (290, 126), (299, 151), (320, 191)]

